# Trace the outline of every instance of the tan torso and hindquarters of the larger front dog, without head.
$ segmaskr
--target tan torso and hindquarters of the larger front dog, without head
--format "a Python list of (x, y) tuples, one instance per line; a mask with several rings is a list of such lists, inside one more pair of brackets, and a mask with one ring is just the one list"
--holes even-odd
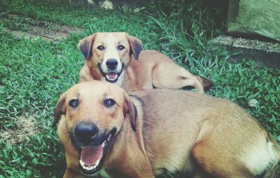
[(233, 102), (182, 90), (135, 94), (144, 109), (144, 141), (155, 174), (161, 167), (190, 172), (198, 163), (217, 177), (255, 177), (279, 163), (275, 139)]

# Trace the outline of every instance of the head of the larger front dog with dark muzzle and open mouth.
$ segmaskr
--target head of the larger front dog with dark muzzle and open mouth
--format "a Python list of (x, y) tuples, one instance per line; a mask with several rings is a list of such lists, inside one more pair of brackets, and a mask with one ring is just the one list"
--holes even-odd
[(66, 125), (63, 130), (69, 134), (59, 137), (70, 135), (66, 142), (78, 151), (77, 163), (86, 175), (102, 168), (106, 153), (125, 122), (130, 122), (129, 129), (136, 130), (137, 111), (130, 97), (117, 85), (102, 81), (79, 83), (62, 94), (53, 125), (62, 115)]

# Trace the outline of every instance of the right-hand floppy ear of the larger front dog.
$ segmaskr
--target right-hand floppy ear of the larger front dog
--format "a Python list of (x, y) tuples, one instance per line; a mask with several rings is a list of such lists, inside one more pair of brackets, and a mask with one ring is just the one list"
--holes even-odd
[(125, 93), (125, 102), (123, 104), (123, 114), (125, 118), (130, 119), (130, 123), (132, 126), (132, 130), (135, 132), (137, 125), (136, 125), (136, 120), (137, 120), (137, 108), (135, 107), (134, 103), (132, 102), (132, 99), (130, 98), (127, 93)]

